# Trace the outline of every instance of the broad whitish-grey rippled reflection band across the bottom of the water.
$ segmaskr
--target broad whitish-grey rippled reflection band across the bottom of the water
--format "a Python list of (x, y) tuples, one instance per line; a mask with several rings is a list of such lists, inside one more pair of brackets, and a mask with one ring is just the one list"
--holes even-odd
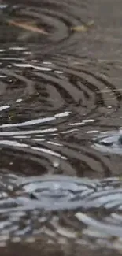
[(51, 243), (60, 243), (63, 237), (64, 244), (75, 239), (75, 243), (80, 240), (95, 247), (101, 240), (102, 244), (106, 241), (106, 248), (119, 247), (121, 179), (22, 178), (3, 173), (2, 180), (6, 192), (0, 198), (0, 237), (4, 243), (36, 242), (48, 235)]

